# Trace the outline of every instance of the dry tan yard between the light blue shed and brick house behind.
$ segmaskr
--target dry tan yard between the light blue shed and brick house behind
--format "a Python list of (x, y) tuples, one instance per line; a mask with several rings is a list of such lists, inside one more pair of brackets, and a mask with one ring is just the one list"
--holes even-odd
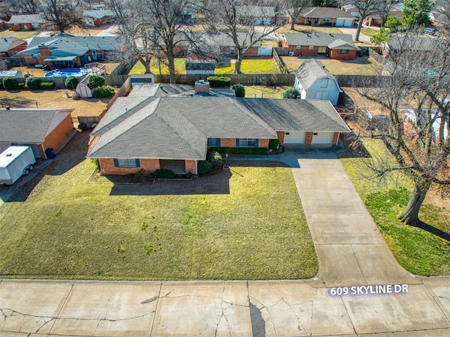
[[(290, 72), (297, 70), (309, 58), (297, 56), (282, 56)], [(381, 75), (383, 68), (367, 56), (357, 57), (352, 61), (331, 60), (330, 58), (316, 58), (326, 66), (333, 75)]]

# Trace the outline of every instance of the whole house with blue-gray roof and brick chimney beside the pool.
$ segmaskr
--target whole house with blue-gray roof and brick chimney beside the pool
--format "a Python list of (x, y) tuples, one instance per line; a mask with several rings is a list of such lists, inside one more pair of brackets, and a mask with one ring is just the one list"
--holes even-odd
[(18, 56), (27, 65), (54, 65), (56, 68), (82, 67), (86, 63), (102, 61), (108, 53), (122, 44), (119, 37), (75, 37), (60, 33), (54, 37), (33, 37), (27, 49)]

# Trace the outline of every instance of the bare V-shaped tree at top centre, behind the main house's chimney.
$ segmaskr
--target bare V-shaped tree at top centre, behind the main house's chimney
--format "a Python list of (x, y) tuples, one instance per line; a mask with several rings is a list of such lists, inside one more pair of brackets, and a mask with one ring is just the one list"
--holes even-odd
[(237, 51), (234, 70), (237, 74), (242, 73), (240, 65), (244, 54), (285, 23), (284, 18), (278, 15), (280, 6), (261, 6), (261, 1), (248, 1), (246, 4), (240, 6), (235, 0), (213, 0), (206, 8), (210, 16), (204, 23), (208, 32), (219, 31), (233, 40)]

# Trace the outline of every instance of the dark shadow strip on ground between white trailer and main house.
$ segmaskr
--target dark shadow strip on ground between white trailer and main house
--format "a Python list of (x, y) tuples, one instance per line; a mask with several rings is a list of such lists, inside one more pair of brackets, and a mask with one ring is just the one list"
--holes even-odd
[(44, 188), (46, 176), (64, 174), (82, 163), (86, 159), (90, 133), (89, 130), (77, 132), (56, 154), (56, 158), (37, 160), (35, 170), (28, 177), (20, 177), (11, 186), (0, 186), (0, 198), (4, 202), (26, 201), (33, 191)]

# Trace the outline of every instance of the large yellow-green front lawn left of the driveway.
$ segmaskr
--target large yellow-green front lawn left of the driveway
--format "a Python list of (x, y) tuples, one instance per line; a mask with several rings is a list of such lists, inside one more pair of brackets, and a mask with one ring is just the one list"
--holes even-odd
[[(80, 161), (85, 153), (77, 151), (58, 155), (39, 184), (23, 186), (25, 195), (0, 208), (1, 277), (316, 274), (314, 246), (289, 168), (236, 162), (231, 170), (188, 182), (86, 183), (94, 165)], [(61, 169), (61, 163), (68, 167)]]

